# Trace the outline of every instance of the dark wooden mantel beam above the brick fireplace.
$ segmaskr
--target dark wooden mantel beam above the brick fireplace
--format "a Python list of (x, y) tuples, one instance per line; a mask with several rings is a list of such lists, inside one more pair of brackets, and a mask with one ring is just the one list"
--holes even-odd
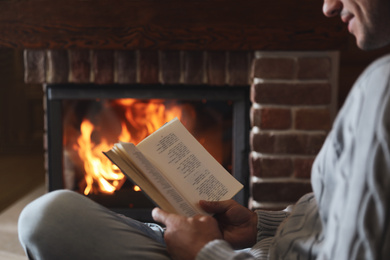
[(0, 1), (0, 46), (18, 49), (330, 50), (340, 19), (313, 0)]

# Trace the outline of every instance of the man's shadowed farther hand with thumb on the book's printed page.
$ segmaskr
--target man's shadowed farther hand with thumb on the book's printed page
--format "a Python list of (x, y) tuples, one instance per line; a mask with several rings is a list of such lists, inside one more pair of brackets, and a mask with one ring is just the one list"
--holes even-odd
[(208, 213), (215, 214), (223, 239), (235, 249), (251, 247), (256, 243), (257, 214), (234, 200), (200, 201)]

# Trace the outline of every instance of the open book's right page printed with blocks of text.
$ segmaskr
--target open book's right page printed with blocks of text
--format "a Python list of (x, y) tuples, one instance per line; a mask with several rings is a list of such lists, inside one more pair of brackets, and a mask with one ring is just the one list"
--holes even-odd
[(176, 118), (137, 148), (194, 205), (231, 199), (243, 185), (223, 168)]

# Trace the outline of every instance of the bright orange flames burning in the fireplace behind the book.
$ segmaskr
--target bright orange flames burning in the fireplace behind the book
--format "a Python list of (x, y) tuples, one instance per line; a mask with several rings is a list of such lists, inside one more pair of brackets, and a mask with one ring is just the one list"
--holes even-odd
[[(118, 107), (124, 114), (124, 120), (118, 122), (121, 125), (119, 136), (111, 137), (110, 140), (134, 144), (139, 143), (174, 117), (182, 118), (183, 111), (179, 105), (167, 106), (157, 99), (148, 102), (137, 99), (118, 99), (109, 105)], [(98, 192), (111, 194), (119, 190), (126, 180), (120, 170), (102, 153), (114, 145), (108, 137), (99, 133), (102, 124), (108, 123), (101, 122), (100, 125), (94, 125), (90, 120), (84, 119), (80, 126), (81, 133), (77, 139), (77, 146), (74, 147), (84, 164), (85, 195)], [(93, 138), (94, 135), (100, 136), (98, 142), (96, 138)]]

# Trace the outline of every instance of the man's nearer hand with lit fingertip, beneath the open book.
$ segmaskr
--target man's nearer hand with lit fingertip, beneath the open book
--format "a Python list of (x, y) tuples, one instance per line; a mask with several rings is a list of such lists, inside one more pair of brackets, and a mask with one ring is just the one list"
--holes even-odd
[(167, 227), (164, 239), (173, 259), (195, 259), (208, 242), (222, 238), (218, 223), (211, 216), (197, 215), (187, 218), (159, 208), (153, 209), (152, 216), (155, 221)]

